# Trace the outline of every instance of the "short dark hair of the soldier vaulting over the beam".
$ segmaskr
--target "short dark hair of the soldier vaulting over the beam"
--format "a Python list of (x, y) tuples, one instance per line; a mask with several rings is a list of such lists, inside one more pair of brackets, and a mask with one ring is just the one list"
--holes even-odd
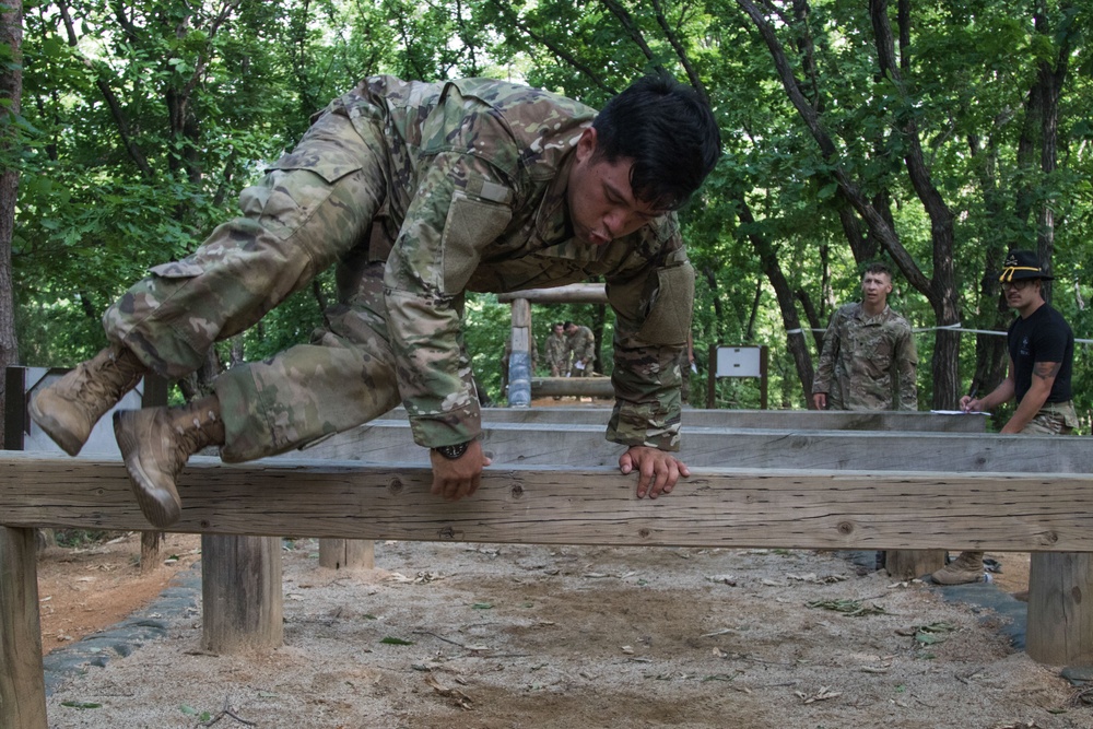
[(691, 86), (667, 73), (635, 81), (592, 121), (596, 154), (634, 161), (634, 197), (658, 210), (675, 210), (698, 189), (721, 153), (709, 106)]

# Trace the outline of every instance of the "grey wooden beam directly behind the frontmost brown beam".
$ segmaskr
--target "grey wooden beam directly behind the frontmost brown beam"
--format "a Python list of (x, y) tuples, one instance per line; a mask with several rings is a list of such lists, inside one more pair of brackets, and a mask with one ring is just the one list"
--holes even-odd
[[(482, 447), (498, 466), (614, 466), (625, 448), (603, 425), (486, 423)], [(680, 458), (691, 467), (974, 473), (1093, 473), (1088, 438), (974, 433), (682, 428)], [(406, 421), (373, 421), (303, 451), (307, 458), (428, 462)], [(297, 454), (298, 456), (298, 454)]]

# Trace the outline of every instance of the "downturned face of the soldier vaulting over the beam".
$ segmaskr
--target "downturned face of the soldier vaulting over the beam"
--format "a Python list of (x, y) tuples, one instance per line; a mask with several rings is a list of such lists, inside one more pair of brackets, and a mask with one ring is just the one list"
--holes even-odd
[(634, 197), (630, 186), (632, 160), (611, 163), (596, 155), (595, 129), (585, 130), (574, 153), (566, 196), (573, 234), (578, 240), (602, 246), (663, 214)]

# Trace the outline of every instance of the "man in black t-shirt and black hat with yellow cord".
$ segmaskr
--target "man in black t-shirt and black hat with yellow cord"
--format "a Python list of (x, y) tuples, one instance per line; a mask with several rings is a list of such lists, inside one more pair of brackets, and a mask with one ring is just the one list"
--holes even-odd
[[(979, 400), (965, 395), (961, 408), (988, 411), (1016, 398), (1018, 409), (1002, 433), (1066, 435), (1078, 425), (1070, 400), (1074, 334), (1062, 315), (1044, 301), (1043, 282), (1051, 277), (1034, 252), (1014, 250), (1006, 257), (999, 280), (1006, 303), (1020, 315), (1007, 334), (1009, 374)], [(983, 579), (983, 552), (962, 552), (931, 576), (942, 585), (978, 581)]]

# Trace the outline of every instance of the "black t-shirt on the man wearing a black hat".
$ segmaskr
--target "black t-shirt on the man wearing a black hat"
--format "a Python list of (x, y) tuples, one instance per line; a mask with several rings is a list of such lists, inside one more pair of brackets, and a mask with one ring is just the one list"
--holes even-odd
[(1013, 380), (1018, 402), (1032, 386), (1033, 365), (1037, 362), (1059, 362), (1061, 367), (1051, 385), (1047, 402), (1066, 402), (1072, 396), (1070, 371), (1074, 364), (1074, 333), (1062, 315), (1044, 304), (1027, 319), (1020, 316), (1010, 325), (1007, 337), (1013, 360)]

